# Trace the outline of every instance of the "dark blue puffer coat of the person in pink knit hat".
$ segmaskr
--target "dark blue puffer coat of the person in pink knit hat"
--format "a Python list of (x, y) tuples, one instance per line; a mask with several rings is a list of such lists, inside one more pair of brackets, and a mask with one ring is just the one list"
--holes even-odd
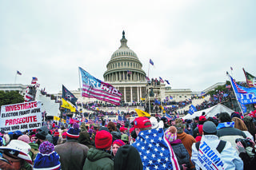
[(174, 140), (170, 142), (170, 145), (177, 157), (179, 168), (183, 169), (182, 164), (186, 164), (186, 167), (190, 168), (190, 155), (182, 144), (182, 140)]

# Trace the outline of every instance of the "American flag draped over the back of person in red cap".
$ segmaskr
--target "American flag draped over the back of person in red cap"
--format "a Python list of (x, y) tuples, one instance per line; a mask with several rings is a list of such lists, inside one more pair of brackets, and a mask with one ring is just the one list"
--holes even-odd
[(139, 132), (132, 145), (141, 156), (143, 169), (179, 169), (178, 160), (162, 128)]

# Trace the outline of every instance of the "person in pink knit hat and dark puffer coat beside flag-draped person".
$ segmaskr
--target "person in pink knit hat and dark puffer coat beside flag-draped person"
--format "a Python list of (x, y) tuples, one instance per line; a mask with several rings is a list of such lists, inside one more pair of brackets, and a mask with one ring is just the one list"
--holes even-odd
[(170, 126), (166, 130), (165, 136), (174, 150), (180, 169), (190, 168), (190, 155), (182, 144), (182, 140), (177, 139), (177, 128)]

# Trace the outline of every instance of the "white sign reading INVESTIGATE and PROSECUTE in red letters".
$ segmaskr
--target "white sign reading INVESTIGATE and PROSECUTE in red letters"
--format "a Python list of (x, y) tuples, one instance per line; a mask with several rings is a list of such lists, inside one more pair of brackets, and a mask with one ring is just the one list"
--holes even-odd
[(25, 131), (42, 126), (42, 103), (30, 101), (13, 105), (2, 105), (0, 130), (5, 132)]

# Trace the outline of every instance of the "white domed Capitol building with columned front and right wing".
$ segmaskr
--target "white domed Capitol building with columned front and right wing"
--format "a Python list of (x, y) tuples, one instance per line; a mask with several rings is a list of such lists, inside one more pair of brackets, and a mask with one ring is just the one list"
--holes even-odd
[(125, 32), (122, 31), (120, 47), (112, 54), (106, 65), (106, 72), (103, 74), (104, 81), (113, 85), (122, 93), (122, 102), (139, 102), (142, 98), (149, 100), (149, 92), (154, 91), (154, 97), (163, 101), (166, 97), (173, 97), (173, 101), (185, 101), (194, 93), (190, 89), (171, 89), (164, 83), (158, 81), (155, 85), (146, 81), (146, 73), (142, 69), (142, 62), (138, 56), (127, 45)]

